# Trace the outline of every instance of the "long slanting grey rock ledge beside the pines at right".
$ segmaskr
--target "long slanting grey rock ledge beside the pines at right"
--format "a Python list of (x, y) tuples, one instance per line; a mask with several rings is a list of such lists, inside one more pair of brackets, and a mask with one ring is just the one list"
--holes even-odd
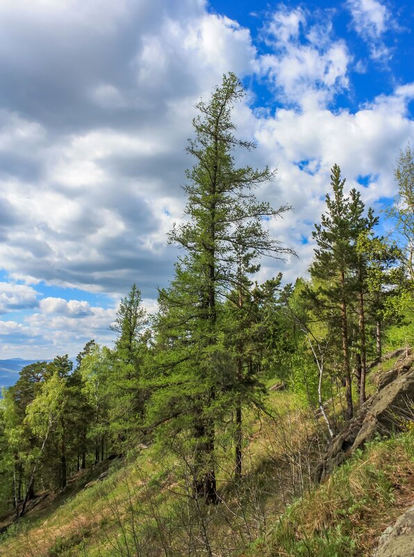
[(414, 367), (412, 350), (404, 350), (390, 371), (379, 377), (376, 394), (360, 408), (354, 419), (329, 445), (315, 470), (315, 481), (323, 481), (331, 471), (363, 447), (374, 435), (389, 435), (413, 419)]

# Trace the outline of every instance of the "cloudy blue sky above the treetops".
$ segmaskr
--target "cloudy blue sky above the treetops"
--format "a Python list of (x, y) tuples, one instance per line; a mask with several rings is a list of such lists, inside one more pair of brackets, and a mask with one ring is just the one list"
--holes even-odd
[[(199, 97), (222, 74), (234, 113), (277, 168), (259, 195), (292, 204), (274, 235), (306, 271), (329, 168), (379, 209), (414, 138), (408, 0), (0, 0), (0, 359), (76, 355), (138, 284), (149, 309), (172, 277)], [(243, 155), (246, 156), (246, 155)]]

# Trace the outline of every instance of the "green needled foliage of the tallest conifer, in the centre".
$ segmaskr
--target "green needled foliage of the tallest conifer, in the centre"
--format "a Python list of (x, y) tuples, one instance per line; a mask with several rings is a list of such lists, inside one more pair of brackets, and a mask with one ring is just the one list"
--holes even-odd
[(273, 209), (254, 193), (272, 172), (235, 168), (233, 150), (254, 147), (236, 138), (231, 121), (233, 106), (244, 95), (229, 73), (208, 103), (197, 104), (195, 137), (187, 149), (195, 159), (184, 188), (188, 220), (169, 236), (185, 255), (169, 288), (160, 291), (155, 323), (158, 373), (151, 385), (149, 426), (167, 423), (166, 440), (192, 430), (188, 439), (199, 460), (197, 476), (214, 474), (219, 424), (234, 411), (240, 435), (241, 405), (261, 389), (258, 314), (270, 298), (264, 289), (251, 290), (248, 275), (258, 270), (260, 255), (291, 253), (263, 227), (264, 217), (276, 218), (289, 208)]

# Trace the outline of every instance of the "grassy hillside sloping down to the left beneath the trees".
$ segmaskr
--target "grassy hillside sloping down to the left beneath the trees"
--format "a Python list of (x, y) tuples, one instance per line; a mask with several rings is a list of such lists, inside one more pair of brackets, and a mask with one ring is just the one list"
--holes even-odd
[[(221, 455), (219, 504), (192, 497), (184, 452), (160, 454), (142, 445), (129, 458), (81, 471), (57, 496), (40, 494), (38, 508), (1, 535), (0, 554), (368, 557), (379, 535), (413, 504), (413, 408), (408, 398), (404, 405), (411, 365), (403, 354), (370, 372), (372, 389), (380, 387), (367, 401), (371, 410), (385, 389), (403, 389), (386, 408), (400, 433), (354, 449), (320, 486), (313, 483), (324, 445), (320, 421), (288, 391), (271, 390), (277, 415), (251, 416), (249, 464), (239, 481)], [(367, 422), (372, 417), (365, 413), (358, 427)]]

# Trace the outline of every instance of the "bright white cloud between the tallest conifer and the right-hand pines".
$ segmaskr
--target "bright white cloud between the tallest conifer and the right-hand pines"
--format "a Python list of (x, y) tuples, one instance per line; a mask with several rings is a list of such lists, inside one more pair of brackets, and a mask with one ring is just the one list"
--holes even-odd
[[(276, 183), (263, 188), (260, 195), (275, 207), (284, 202), (294, 207), (284, 220), (271, 223), (271, 229), (300, 256), (284, 268), (266, 261), (263, 273), (283, 271), (286, 280), (306, 273), (313, 257), (311, 232), (325, 210), (324, 195), (329, 192), (334, 163), (347, 178), (348, 191), (356, 187), (365, 204), (374, 206), (380, 198), (395, 195), (395, 156), (414, 137), (414, 122), (406, 117), (412, 94), (411, 86), (397, 88), (356, 113), (280, 108), (274, 116), (257, 122), (256, 140), (263, 161), (278, 168)], [(369, 184), (361, 186), (358, 178), (367, 176)]]

